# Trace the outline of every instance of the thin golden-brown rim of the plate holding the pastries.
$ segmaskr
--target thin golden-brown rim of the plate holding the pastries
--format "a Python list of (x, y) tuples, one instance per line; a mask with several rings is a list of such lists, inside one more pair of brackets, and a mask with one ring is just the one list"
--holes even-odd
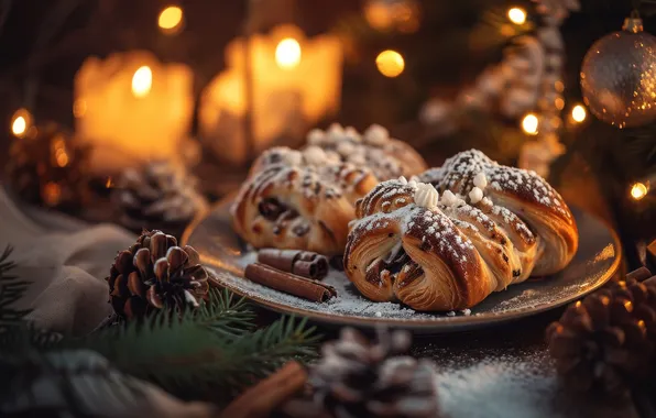
[[(227, 195), (222, 199), (219, 199), (217, 202), (215, 202), (206, 212), (200, 213), (199, 216), (194, 218), (194, 220), (187, 226), (187, 228), (185, 228), (185, 231), (183, 232), (183, 234), (181, 237), (181, 244), (187, 245), (189, 242), (189, 238), (192, 237), (194, 231), (196, 231), (196, 229), (200, 226), (200, 223), (203, 223), (203, 221), (205, 219), (209, 218), (215, 212), (215, 210), (230, 204), (230, 201), (234, 199), (234, 196), (236, 196), (236, 193)], [(623, 249), (622, 249), (622, 242), (620, 241), (620, 238), (619, 238), (615, 229), (609, 222), (606, 222), (603, 218), (601, 218), (588, 210), (584, 210), (577, 205), (570, 205), (570, 204), (567, 204), (567, 205), (570, 208), (579, 209), (581, 212), (586, 213), (589, 217), (594, 218), (600, 223), (602, 223), (604, 227), (606, 227), (606, 229), (610, 231), (611, 237), (613, 239), (613, 244), (616, 248), (617, 256), (613, 261), (613, 264), (611, 265), (611, 267), (600, 277), (600, 279), (597, 280), (594, 286), (590, 287), (589, 289), (587, 289), (586, 292), (583, 292), (581, 294), (578, 294), (577, 296), (564, 297), (553, 304), (544, 305), (544, 306), (540, 306), (537, 308), (523, 308), (520, 310), (504, 311), (504, 312), (499, 312), (499, 314), (486, 314), (485, 317), (481, 317), (475, 321), (472, 321), (472, 318), (477, 317), (475, 315), (456, 316), (456, 317), (440, 317), (440, 319), (437, 319), (437, 320), (436, 319), (356, 317), (356, 316), (348, 316), (348, 315), (340, 315), (340, 314), (325, 314), (325, 312), (318, 312), (315, 310), (309, 310), (309, 309), (304, 309), (304, 308), (289, 307), (287, 305), (282, 305), (282, 304), (277, 304), (277, 302), (264, 299), (258, 295), (250, 295), (247, 292), (242, 292), (241, 289), (236, 288), (234, 286), (231, 286), (229, 283), (226, 283), (225, 280), (220, 279), (219, 277), (216, 277), (214, 282), (215, 282), (215, 285), (218, 284), (221, 287), (226, 287), (230, 292), (234, 293), (236, 295), (243, 297), (243, 298), (254, 302), (255, 305), (259, 305), (266, 309), (273, 310), (275, 312), (284, 314), (284, 315), (302, 316), (302, 317), (308, 318), (311, 321), (328, 323), (328, 324), (332, 324), (332, 326), (373, 327), (376, 324), (385, 324), (385, 326), (392, 327), (392, 328), (403, 327), (405, 329), (434, 331), (436, 333), (458, 331), (458, 330), (464, 330), (464, 329), (473, 329), (473, 328), (484, 328), (486, 326), (499, 324), (502, 322), (509, 322), (509, 321), (513, 321), (513, 320), (517, 320), (517, 319), (522, 319), (522, 318), (536, 316), (536, 315), (539, 315), (539, 314), (543, 314), (543, 312), (546, 312), (549, 310), (557, 309), (557, 308), (559, 308), (564, 305), (567, 305), (571, 301), (578, 300), (578, 299), (591, 294), (592, 292), (599, 289), (617, 272), (617, 270), (620, 268), (620, 265), (622, 264)], [(204, 256), (201, 255), (200, 258), (203, 262)], [(240, 272), (228, 272), (227, 274), (234, 274), (237, 277), (243, 278), (242, 272), (239, 275), (237, 273), (240, 273)]]

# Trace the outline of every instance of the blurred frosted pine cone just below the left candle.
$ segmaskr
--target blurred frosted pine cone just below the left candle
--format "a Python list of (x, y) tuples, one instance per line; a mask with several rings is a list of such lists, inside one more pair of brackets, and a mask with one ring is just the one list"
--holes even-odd
[(127, 228), (162, 229), (176, 234), (207, 209), (207, 201), (196, 189), (196, 178), (166, 162), (125, 170), (117, 182), (113, 202)]

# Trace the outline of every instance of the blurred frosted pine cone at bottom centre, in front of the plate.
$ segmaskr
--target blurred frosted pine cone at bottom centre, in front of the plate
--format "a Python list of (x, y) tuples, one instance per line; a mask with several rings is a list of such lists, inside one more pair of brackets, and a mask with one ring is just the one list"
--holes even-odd
[(356, 330), (342, 330), (310, 372), (315, 400), (335, 417), (436, 417), (435, 369), (400, 355), (409, 345), (407, 332), (383, 333), (370, 344)]

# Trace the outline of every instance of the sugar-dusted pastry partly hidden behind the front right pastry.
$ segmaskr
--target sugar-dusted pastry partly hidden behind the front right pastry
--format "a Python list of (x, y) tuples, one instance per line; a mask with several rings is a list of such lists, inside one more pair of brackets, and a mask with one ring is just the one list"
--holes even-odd
[(447, 160), (440, 168), (427, 170), (419, 179), (440, 193), (450, 190), (489, 207), (493, 204), (491, 216), (496, 218), (522, 218), (539, 238), (533, 275), (559, 272), (577, 252), (579, 234), (569, 208), (534, 172), (499, 165), (482, 152), (470, 150)]

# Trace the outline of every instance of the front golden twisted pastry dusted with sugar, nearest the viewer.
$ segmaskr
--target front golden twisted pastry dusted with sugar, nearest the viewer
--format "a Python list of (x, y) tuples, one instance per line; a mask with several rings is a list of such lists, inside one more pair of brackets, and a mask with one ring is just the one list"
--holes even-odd
[(357, 204), (345, 271), (369, 299), (416, 310), (472, 307), (531, 274), (536, 238), (516, 217), (492, 218), (447, 191), (405, 178)]

